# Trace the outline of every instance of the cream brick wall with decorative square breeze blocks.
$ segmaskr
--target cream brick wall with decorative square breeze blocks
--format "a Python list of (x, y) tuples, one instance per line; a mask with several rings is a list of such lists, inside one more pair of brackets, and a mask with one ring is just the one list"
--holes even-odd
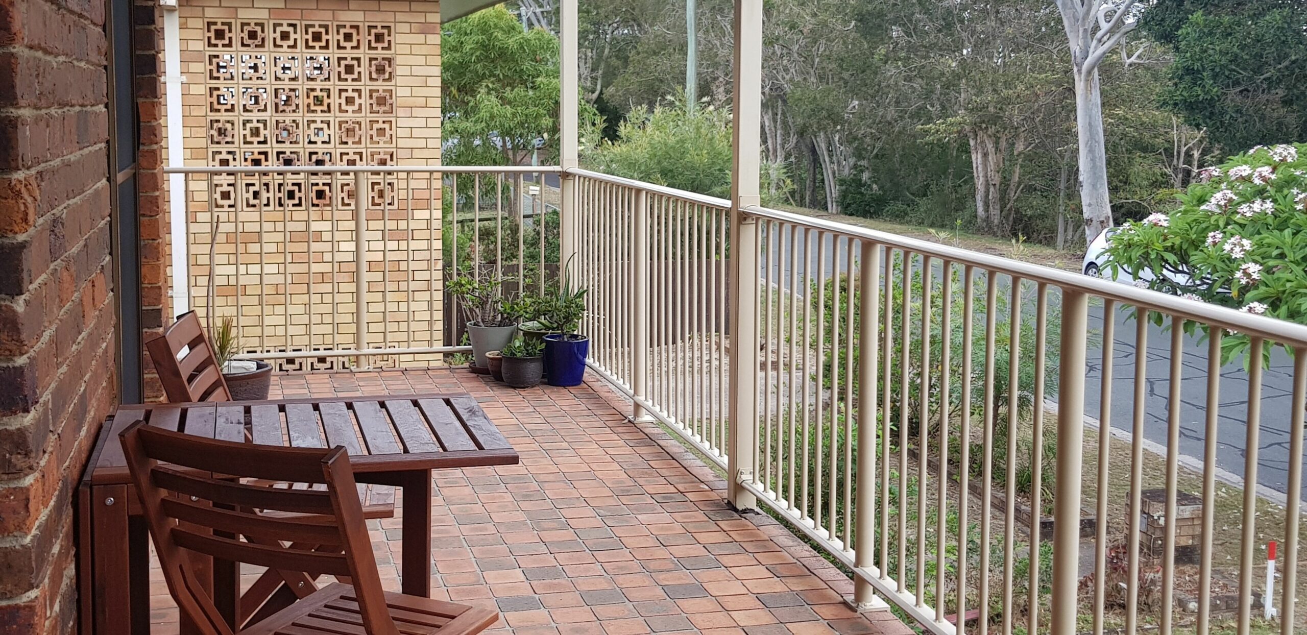
[[(179, 10), (187, 165), (439, 165), (438, 3), (182, 0)], [(237, 320), (248, 351), (442, 345), (433, 176), (366, 179), (363, 341), (354, 175), (190, 178), (192, 306), (209, 311), (212, 272), (213, 315)]]

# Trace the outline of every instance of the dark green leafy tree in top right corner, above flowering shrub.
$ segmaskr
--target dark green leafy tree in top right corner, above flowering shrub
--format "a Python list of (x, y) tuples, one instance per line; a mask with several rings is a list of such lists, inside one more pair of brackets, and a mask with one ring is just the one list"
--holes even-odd
[(1140, 25), (1175, 51), (1163, 103), (1226, 153), (1307, 140), (1307, 5), (1158, 0)]

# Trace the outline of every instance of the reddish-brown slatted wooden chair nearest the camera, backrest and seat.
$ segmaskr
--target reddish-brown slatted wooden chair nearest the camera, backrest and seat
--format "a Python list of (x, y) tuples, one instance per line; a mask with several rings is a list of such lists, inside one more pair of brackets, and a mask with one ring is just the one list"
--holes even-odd
[[(140, 422), (123, 431), (122, 442), (169, 592), (205, 635), (471, 635), (498, 621), (489, 609), (382, 591), (344, 447), (251, 446)], [(227, 477), (320, 483), (325, 490), (260, 487)], [(342, 550), (301, 550), (286, 542), (339, 544)], [(349, 576), (352, 584), (333, 583), (235, 630), (204, 591), (187, 551)]]

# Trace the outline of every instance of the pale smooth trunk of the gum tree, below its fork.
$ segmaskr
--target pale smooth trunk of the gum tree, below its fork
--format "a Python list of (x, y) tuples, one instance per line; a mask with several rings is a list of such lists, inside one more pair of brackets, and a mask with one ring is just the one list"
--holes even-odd
[(1076, 72), (1076, 125), (1080, 137), (1080, 203), (1085, 213), (1085, 244), (1112, 226), (1107, 189), (1107, 144), (1103, 140), (1103, 95), (1098, 71)]

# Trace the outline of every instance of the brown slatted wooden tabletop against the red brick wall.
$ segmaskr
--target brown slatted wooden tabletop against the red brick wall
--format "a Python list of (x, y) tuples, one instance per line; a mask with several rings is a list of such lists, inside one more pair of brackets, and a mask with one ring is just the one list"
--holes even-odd
[(118, 434), (135, 421), (243, 443), (344, 446), (358, 473), (518, 463), (518, 452), (468, 395), (148, 404), (119, 406), (94, 483), (128, 482)]

